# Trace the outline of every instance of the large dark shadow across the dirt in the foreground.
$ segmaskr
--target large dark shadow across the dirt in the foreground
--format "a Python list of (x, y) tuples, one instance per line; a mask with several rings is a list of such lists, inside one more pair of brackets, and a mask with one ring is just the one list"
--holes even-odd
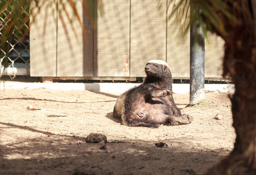
[(103, 143), (86, 143), (77, 136), (1, 124), (43, 136), (1, 143), (0, 174), (202, 174), (223, 157), (223, 149), (180, 148), (182, 142), (172, 139), (163, 148), (157, 148), (156, 142), (128, 140), (106, 143), (102, 149)]

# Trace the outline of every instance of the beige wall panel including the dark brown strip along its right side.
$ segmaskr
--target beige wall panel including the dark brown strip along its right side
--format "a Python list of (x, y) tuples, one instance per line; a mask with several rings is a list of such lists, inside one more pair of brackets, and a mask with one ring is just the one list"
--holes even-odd
[[(83, 29), (74, 16), (73, 9), (66, 2), (65, 8), (73, 23), (70, 24), (64, 11), (58, 13), (57, 76), (93, 76), (93, 26), (83, 10), (82, 1), (76, 3), (78, 15), (86, 30), (87, 41), (83, 38)], [(64, 9), (59, 0), (58, 6), (59, 9)]]

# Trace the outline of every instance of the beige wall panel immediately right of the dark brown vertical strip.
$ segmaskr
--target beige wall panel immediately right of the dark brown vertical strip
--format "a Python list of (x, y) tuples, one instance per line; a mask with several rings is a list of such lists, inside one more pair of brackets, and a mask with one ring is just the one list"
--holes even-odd
[(94, 76), (129, 76), (128, 0), (104, 0), (94, 32)]

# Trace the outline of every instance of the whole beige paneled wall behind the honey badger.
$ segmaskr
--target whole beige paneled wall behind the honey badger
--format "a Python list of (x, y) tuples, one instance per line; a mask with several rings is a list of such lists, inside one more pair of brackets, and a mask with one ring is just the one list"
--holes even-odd
[[(168, 62), (173, 78), (189, 78), (189, 35), (183, 39), (179, 24), (167, 20), (168, 0), (160, 9), (154, 0), (103, 2), (104, 13), (94, 12), (95, 30), (77, 3), (87, 41), (75, 17), (70, 25), (53, 6), (41, 10), (30, 30), (31, 76), (141, 77), (146, 62), (159, 59)], [(216, 36), (206, 41), (206, 78), (221, 79), (223, 44)]]

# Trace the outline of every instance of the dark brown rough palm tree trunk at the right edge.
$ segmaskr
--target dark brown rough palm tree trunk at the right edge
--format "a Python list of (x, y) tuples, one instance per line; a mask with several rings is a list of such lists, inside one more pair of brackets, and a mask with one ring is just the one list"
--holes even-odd
[(223, 76), (230, 74), (235, 85), (235, 93), (230, 100), (237, 137), (233, 152), (207, 174), (256, 174), (255, 27), (248, 27), (241, 13), (236, 17), (237, 23), (227, 26), (230, 32), (224, 38)]

